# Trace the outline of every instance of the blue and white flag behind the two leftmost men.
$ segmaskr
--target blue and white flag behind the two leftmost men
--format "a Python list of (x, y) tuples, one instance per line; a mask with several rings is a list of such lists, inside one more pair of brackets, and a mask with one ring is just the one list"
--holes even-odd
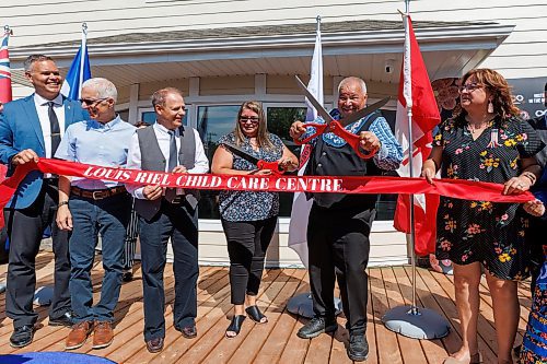
[(65, 78), (61, 94), (68, 98), (79, 99), (82, 91), (82, 83), (89, 79), (91, 79), (91, 67), (88, 55), (88, 27), (84, 23), (82, 25), (82, 44)]

